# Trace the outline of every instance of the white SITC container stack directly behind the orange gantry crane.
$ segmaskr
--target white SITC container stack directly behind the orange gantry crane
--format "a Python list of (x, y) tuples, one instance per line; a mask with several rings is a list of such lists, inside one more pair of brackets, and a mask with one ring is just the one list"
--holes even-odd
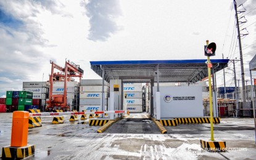
[[(76, 110), (78, 103), (79, 83), (76, 81), (67, 81), (67, 105), (70, 110)], [(52, 85), (52, 95), (64, 94), (64, 81), (54, 81)], [(76, 103), (77, 102), (77, 103)]]

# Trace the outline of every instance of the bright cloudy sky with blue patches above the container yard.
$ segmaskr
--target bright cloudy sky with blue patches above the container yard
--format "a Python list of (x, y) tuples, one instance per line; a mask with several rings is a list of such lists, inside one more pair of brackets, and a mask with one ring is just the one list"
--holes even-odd
[[(256, 2), (237, 1), (242, 2), (239, 10), (247, 10), (247, 23), (241, 29), (249, 31), (242, 39), (249, 79), (248, 63), (256, 49)], [(23, 81), (47, 81), (50, 60), (64, 66), (67, 58), (85, 71), (83, 79), (99, 79), (89, 61), (202, 59), (207, 39), (217, 44), (214, 58), (239, 58), (234, 22), (231, 0), (3, 0), (0, 97), (6, 90), (22, 90)], [(218, 86), (223, 86), (222, 74), (217, 73)], [(234, 86), (233, 74), (226, 76), (227, 86)]]

